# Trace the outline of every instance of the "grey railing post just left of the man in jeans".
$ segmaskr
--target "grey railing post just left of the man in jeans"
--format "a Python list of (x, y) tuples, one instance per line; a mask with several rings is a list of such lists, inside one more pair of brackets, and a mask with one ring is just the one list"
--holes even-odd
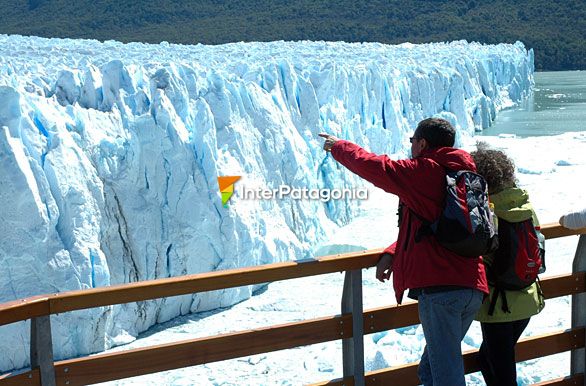
[(364, 316), (360, 269), (346, 271), (342, 313), (352, 313), (352, 338), (342, 340), (344, 377), (354, 377), (355, 386), (364, 386)]

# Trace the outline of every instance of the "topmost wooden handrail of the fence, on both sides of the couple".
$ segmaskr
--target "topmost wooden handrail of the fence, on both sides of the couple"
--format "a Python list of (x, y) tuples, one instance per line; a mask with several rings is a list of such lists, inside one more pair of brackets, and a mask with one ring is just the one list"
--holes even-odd
[[(545, 224), (546, 239), (586, 234), (558, 223)], [(169, 296), (261, 284), (278, 280), (369, 268), (376, 265), (382, 249), (297, 260), (223, 271), (199, 273), (114, 286), (38, 295), (0, 304), (0, 326), (33, 317)]]

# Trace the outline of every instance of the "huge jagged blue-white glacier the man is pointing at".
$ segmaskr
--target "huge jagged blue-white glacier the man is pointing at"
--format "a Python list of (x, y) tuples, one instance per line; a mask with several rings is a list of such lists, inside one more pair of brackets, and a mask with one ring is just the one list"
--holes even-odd
[[(520, 42), (158, 45), (0, 35), (0, 302), (313, 258), (359, 200), (239, 200), (217, 177), (361, 187), (319, 132), (407, 157), (416, 123), (457, 143), (531, 93)], [(52, 317), (55, 358), (132, 341), (242, 287)], [(28, 365), (28, 323), (0, 327), (0, 371)]]

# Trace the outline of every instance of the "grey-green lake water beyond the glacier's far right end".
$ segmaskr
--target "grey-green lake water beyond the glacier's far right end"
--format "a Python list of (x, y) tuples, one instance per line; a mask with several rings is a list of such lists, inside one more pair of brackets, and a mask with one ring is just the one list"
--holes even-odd
[(586, 71), (536, 72), (533, 94), (519, 107), (503, 110), (477, 135), (519, 137), (586, 131)]

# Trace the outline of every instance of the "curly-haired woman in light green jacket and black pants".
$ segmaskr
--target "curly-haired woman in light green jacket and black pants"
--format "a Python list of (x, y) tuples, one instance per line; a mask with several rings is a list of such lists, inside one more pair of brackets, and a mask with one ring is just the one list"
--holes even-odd
[[(515, 166), (511, 159), (502, 151), (488, 149), (482, 144), (471, 154), (478, 173), (488, 183), (488, 194), (496, 216), (511, 223), (532, 218), (534, 226), (539, 227), (527, 192), (516, 187)], [(505, 290), (504, 296), (494, 298), (495, 288), (490, 285), (493, 256), (484, 256), (484, 263), (490, 294), (476, 315), (483, 339), (479, 350), (480, 368), (487, 386), (516, 386), (515, 345), (531, 316), (543, 309), (543, 294), (535, 282), (522, 290)]]

